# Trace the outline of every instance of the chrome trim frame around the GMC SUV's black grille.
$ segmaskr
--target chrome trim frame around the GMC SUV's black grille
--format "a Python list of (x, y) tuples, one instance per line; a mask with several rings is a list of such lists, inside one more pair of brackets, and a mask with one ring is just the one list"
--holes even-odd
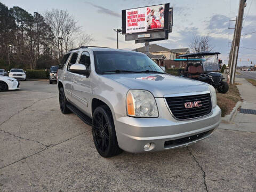
[[(212, 94), (210, 91), (201, 91), (201, 92), (190, 92), (190, 93), (177, 93), (177, 94), (167, 94), (167, 95), (164, 95), (164, 102), (165, 102), (165, 105), (167, 107), (167, 109), (169, 110), (170, 114), (172, 115), (172, 117), (174, 119), (176, 119), (177, 121), (190, 121), (190, 120), (194, 120), (194, 119), (199, 119), (199, 118), (204, 118), (204, 117), (208, 117), (208, 116), (211, 116), (212, 115), (212, 107), (211, 107), (211, 112), (207, 115), (204, 115), (204, 116), (200, 116), (200, 117), (194, 117), (194, 118), (186, 118), (186, 119), (179, 119), (177, 117), (175, 117), (166, 101), (166, 96), (167, 97), (182, 97), (182, 96), (189, 96), (189, 95), (201, 95), (201, 94), (198, 94), (198, 93), (201, 93), (201, 94), (209, 94), (211, 95), (211, 102), (212, 102)], [(171, 96), (169, 96), (171, 95)], [(175, 96), (174, 96), (175, 95)], [(212, 106), (212, 105), (211, 105)]]

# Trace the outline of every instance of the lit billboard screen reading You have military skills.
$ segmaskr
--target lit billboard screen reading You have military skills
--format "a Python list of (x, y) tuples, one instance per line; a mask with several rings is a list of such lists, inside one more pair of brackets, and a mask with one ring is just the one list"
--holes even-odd
[(123, 34), (145, 33), (168, 28), (169, 3), (122, 11)]

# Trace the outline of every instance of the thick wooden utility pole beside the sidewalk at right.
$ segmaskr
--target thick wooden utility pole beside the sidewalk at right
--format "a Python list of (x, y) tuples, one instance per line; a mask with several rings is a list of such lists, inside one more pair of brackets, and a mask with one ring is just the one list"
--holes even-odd
[(243, 17), (244, 17), (244, 7), (246, 6), (246, 0), (240, 0), (238, 17), (236, 20), (236, 27), (234, 31), (234, 39), (231, 47), (231, 62), (230, 62), (230, 83), (233, 84), (235, 81), (235, 71), (237, 65), (237, 58), (239, 52), (239, 44), (241, 38), (241, 31), (243, 26)]

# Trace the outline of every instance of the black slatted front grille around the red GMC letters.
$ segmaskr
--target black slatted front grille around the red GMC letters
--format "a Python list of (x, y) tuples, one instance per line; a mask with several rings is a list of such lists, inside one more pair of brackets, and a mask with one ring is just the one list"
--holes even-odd
[[(201, 117), (211, 113), (212, 102), (210, 93), (199, 95), (186, 95), (181, 97), (165, 98), (172, 115), (177, 119), (190, 119)], [(185, 103), (190, 103), (193, 106), (195, 101), (201, 101), (199, 107), (185, 108)]]

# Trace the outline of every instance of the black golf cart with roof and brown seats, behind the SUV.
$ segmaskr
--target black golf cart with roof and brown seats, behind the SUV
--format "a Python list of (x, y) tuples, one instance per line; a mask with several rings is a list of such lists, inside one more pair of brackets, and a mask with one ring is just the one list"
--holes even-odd
[(197, 79), (211, 84), (219, 93), (227, 93), (228, 83), (220, 73), (220, 63), (218, 60), (219, 52), (198, 52), (179, 55), (186, 62), (186, 67), (180, 70), (183, 77)]

